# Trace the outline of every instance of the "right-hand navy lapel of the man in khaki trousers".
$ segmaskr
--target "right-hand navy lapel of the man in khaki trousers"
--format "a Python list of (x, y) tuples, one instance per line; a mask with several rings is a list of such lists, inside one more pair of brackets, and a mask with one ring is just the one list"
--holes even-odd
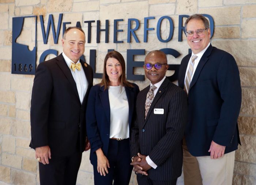
[[(192, 78), (192, 81), (191, 81), (191, 84), (189, 86), (189, 90), (193, 87), (193, 85), (195, 85), (198, 77), (199, 77), (199, 74), (201, 72), (201, 70), (203, 69), (205, 63), (208, 61), (208, 56), (211, 54), (211, 51), (212, 51), (212, 45), (210, 44), (210, 46), (207, 48), (207, 50), (204, 52), (202, 58), (200, 59), (197, 67), (196, 67), (196, 71), (194, 73), (194, 76)], [(188, 90), (188, 92), (189, 92)]]

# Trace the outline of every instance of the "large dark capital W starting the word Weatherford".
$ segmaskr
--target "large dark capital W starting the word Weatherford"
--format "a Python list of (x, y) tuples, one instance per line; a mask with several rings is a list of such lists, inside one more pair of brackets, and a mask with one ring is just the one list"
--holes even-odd
[(47, 42), (48, 42), (50, 25), (52, 25), (52, 35), (53, 35), (54, 44), (58, 43), (58, 39), (59, 39), (59, 35), (60, 35), (60, 25), (61, 25), (61, 21), (62, 21), (62, 16), (63, 16), (63, 14), (59, 15), (57, 32), (55, 33), (53, 16), (52, 16), (52, 14), (49, 15), (48, 24), (47, 24), (47, 30), (46, 30), (46, 34), (45, 34), (44, 19), (43, 19), (42, 15), (39, 15), (40, 23), (41, 23), (42, 35), (43, 35), (43, 39), (44, 39), (44, 44), (47, 44)]

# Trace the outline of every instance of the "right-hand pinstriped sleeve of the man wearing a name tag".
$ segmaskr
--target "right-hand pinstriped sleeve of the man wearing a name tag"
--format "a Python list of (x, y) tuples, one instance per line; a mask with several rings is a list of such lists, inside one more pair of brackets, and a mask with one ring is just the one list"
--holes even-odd
[(166, 134), (149, 154), (150, 159), (157, 166), (165, 162), (177, 145), (181, 143), (187, 121), (187, 105), (187, 95), (184, 90), (178, 90), (170, 99), (165, 128)]

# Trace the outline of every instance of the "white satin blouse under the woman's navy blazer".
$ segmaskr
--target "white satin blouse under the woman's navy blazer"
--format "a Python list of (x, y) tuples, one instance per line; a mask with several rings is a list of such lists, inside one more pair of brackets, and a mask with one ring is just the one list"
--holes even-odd
[(129, 138), (129, 105), (125, 87), (109, 86), (110, 134), (109, 138)]

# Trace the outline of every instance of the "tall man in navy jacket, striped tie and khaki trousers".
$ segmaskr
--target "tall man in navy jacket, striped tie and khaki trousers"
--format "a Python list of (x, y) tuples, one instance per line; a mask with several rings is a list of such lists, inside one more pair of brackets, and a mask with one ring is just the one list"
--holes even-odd
[(188, 94), (183, 143), (185, 185), (231, 185), (240, 143), (239, 70), (234, 57), (210, 43), (208, 20), (201, 14), (185, 22), (192, 54), (180, 65), (179, 86)]

